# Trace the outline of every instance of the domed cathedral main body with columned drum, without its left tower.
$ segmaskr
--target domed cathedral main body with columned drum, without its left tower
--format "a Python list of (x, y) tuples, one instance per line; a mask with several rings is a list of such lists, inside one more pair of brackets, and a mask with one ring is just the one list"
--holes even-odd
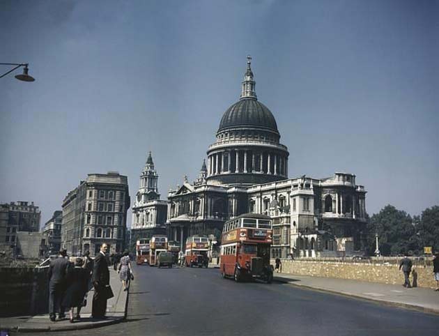
[(214, 234), (242, 213), (272, 217), (273, 257), (316, 257), (362, 248), (365, 194), (355, 175), (288, 179), (288, 150), (270, 109), (257, 100), (247, 60), (240, 100), (224, 112), (199, 177), (168, 194), (169, 234)]

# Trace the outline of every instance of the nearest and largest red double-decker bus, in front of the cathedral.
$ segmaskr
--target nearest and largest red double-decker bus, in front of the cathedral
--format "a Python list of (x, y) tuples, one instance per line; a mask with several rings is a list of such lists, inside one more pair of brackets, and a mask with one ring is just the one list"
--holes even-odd
[(271, 219), (266, 215), (246, 213), (225, 222), (219, 263), (222, 277), (272, 282), (271, 243)]

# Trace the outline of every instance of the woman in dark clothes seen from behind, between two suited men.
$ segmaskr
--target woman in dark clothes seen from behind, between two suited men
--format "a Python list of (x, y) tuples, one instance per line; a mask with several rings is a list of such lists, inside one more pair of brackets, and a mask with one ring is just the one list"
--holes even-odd
[(82, 268), (84, 261), (81, 258), (75, 260), (75, 267), (70, 268), (67, 273), (67, 289), (63, 297), (63, 307), (70, 308), (70, 323), (74, 322), (73, 310), (76, 307), (76, 319), (81, 319), (81, 307), (84, 304), (88, 291), (87, 269)]

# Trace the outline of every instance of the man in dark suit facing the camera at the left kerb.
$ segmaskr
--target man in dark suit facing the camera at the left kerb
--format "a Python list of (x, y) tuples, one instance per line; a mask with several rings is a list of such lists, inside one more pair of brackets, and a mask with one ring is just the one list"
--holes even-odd
[(100, 252), (95, 257), (93, 265), (93, 287), (95, 293), (93, 294), (93, 307), (91, 315), (94, 319), (105, 319), (105, 312), (107, 310), (107, 292), (105, 287), (109, 285), (109, 270), (107, 264), (108, 246), (106, 243), (100, 245)]

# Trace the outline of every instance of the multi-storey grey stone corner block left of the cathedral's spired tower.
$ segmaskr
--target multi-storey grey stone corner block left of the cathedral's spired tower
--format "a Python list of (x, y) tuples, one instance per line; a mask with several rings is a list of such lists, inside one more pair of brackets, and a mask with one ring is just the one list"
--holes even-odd
[(61, 247), (68, 254), (89, 251), (93, 256), (107, 243), (110, 254), (123, 252), (128, 208), (127, 176), (88, 174), (63, 201)]

